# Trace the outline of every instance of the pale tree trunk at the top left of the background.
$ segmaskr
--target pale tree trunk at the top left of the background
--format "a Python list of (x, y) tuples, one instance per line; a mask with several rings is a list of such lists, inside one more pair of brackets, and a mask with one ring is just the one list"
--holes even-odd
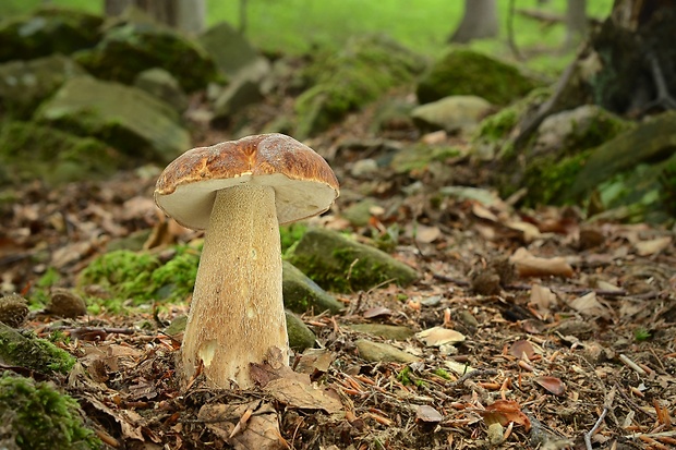
[(184, 33), (197, 34), (204, 29), (205, 0), (106, 0), (104, 11), (107, 16), (116, 16), (130, 5)]

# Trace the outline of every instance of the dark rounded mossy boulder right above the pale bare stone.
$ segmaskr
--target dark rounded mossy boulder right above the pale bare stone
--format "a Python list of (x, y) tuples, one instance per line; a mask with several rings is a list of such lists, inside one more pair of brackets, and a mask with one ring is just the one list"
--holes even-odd
[(421, 104), (474, 95), (493, 105), (523, 97), (536, 83), (516, 66), (469, 49), (452, 49), (436, 61), (418, 84)]

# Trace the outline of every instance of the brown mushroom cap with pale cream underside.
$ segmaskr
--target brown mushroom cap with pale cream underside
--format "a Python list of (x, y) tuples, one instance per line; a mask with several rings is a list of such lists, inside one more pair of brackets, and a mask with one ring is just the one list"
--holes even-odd
[(338, 180), (324, 158), (274, 133), (185, 151), (159, 175), (155, 203), (183, 227), (204, 230), (216, 192), (248, 184), (275, 190), (280, 224), (322, 214), (339, 195)]

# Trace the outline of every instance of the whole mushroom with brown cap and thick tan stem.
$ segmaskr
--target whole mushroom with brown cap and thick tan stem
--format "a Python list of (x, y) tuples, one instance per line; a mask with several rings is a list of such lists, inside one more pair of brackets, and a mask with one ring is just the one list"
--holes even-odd
[(314, 150), (283, 134), (193, 148), (157, 180), (155, 203), (206, 230), (183, 335), (185, 379), (250, 388), (251, 363), (289, 364), (279, 224), (326, 211), (338, 181)]

